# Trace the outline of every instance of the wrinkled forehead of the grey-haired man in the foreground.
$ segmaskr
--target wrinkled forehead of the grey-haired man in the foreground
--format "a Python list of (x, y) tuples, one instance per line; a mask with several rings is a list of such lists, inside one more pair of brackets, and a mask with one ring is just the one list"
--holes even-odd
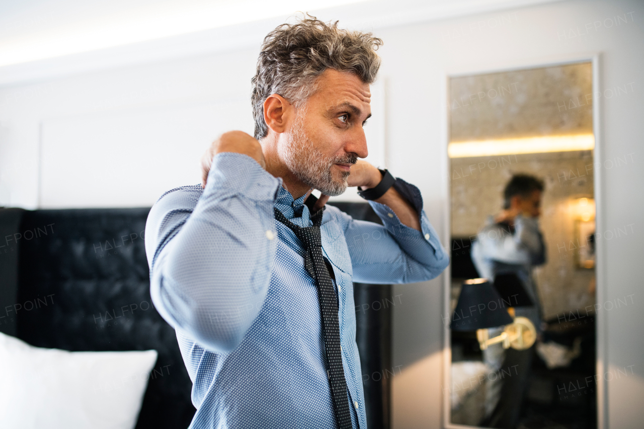
[(370, 109), (369, 85), (361, 81), (355, 73), (327, 69), (317, 78), (316, 84), (317, 91), (312, 99), (324, 102), (328, 108), (351, 102), (361, 109)]

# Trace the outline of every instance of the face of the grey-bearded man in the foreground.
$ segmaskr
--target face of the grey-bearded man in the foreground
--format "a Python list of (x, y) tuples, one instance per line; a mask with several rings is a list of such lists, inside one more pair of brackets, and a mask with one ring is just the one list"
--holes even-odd
[(301, 182), (335, 196), (346, 190), (352, 164), (368, 155), (363, 125), (371, 116), (371, 93), (354, 73), (332, 69), (316, 84), (279, 151)]

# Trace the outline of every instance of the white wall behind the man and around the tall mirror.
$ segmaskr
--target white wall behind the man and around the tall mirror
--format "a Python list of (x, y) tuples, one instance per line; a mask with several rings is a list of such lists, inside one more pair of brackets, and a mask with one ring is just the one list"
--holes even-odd
[[(624, 14), (627, 23), (611, 21)], [(595, 27), (596, 22), (601, 24)], [(385, 25), (375, 32), (385, 41), (380, 53), (387, 164), (420, 187), (439, 231), (447, 226), (448, 73), (598, 52), (602, 90), (634, 82), (626, 95), (601, 97), (600, 222), (606, 230), (633, 224), (633, 232), (605, 242), (598, 288), (604, 301), (632, 295), (632, 304), (604, 312), (607, 368), (634, 365), (632, 376), (608, 382), (607, 422), (611, 428), (639, 428), (644, 421), (644, 319), (639, 317), (644, 296), (638, 292), (644, 240), (644, 3), (564, 1)], [(0, 205), (150, 205), (169, 187), (198, 182), (198, 160), (209, 140), (225, 129), (251, 129), (249, 79), (257, 53), (258, 44), (0, 88)], [(611, 166), (609, 160), (629, 154), (627, 164)], [(124, 186), (131, 187), (125, 199), (114, 193)], [(395, 427), (438, 428), (442, 282), (397, 286), (395, 295), (393, 360), (402, 370), (393, 383)]]

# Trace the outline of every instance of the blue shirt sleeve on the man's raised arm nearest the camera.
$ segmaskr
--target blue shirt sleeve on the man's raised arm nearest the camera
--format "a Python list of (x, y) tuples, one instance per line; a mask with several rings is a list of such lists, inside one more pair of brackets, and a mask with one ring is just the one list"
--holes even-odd
[(170, 325), (205, 348), (232, 350), (263, 305), (280, 185), (251, 157), (220, 153), (203, 191), (169, 191), (149, 213), (152, 300)]

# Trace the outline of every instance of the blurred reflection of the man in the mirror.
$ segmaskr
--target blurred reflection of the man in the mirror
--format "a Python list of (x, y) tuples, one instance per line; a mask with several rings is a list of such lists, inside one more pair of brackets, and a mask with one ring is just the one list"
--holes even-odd
[[(533, 267), (545, 263), (545, 243), (538, 224), (543, 191), (544, 182), (535, 176), (514, 175), (503, 193), (503, 210), (477, 234), (471, 253), (480, 276), (494, 280), (497, 274), (513, 272), (522, 280), (535, 305), (517, 307), (516, 316), (529, 318), (537, 332), (541, 325), (540, 304), (531, 274)], [(497, 336), (503, 328), (490, 331), (490, 336)], [(490, 416), (489, 426), (515, 427), (532, 356), (533, 348), (504, 350), (497, 344), (484, 350), (483, 358), (490, 370), (518, 365), (514, 377), (497, 379), (497, 383), (488, 386), (486, 415)]]

